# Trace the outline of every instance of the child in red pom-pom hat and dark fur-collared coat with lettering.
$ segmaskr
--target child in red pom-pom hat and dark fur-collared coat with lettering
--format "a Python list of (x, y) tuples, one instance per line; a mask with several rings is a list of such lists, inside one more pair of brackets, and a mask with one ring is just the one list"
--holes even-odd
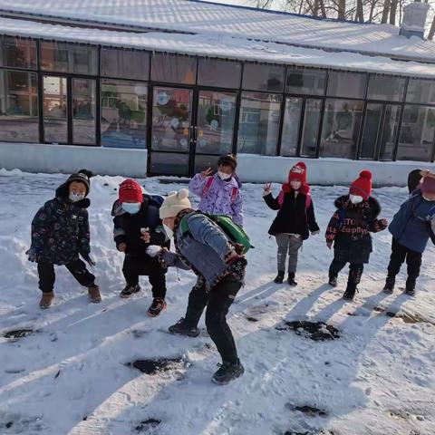
[(346, 263), (350, 263), (349, 277), (343, 299), (353, 299), (361, 281), (364, 264), (369, 263), (372, 252), (372, 233), (382, 231), (387, 219), (378, 219), (379, 202), (371, 197), (372, 173), (362, 170), (353, 181), (349, 195), (335, 199), (337, 208), (326, 229), (326, 245), (333, 246), (333, 262), (329, 267), (329, 285), (337, 285), (337, 276)]

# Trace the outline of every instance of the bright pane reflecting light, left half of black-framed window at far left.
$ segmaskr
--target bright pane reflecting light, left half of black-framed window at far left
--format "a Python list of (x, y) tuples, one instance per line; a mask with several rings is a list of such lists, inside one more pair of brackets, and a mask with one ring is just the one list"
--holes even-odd
[(68, 141), (66, 87), (64, 77), (43, 76), (43, 138), (46, 142)]

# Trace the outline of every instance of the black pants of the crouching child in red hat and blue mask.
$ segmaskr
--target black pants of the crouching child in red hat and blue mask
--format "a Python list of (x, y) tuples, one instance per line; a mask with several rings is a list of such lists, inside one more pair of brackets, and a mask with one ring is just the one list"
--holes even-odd
[(139, 276), (146, 275), (150, 281), (152, 297), (164, 299), (166, 296), (166, 269), (156, 258), (125, 256), (122, 273), (128, 285), (138, 285)]

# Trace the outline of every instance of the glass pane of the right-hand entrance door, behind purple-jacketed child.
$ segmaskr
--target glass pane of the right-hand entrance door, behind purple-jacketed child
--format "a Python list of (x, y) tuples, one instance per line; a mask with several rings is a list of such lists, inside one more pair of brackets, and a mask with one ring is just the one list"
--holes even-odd
[(196, 152), (227, 154), (233, 145), (236, 94), (200, 91)]

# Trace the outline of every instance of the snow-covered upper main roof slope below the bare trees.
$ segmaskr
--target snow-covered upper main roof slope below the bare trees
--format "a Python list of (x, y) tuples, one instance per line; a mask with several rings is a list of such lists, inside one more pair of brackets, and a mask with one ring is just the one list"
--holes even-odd
[(391, 24), (314, 19), (189, 0), (0, 0), (0, 13), (34, 14), (92, 23), (262, 41), (435, 62), (435, 43), (399, 36)]

